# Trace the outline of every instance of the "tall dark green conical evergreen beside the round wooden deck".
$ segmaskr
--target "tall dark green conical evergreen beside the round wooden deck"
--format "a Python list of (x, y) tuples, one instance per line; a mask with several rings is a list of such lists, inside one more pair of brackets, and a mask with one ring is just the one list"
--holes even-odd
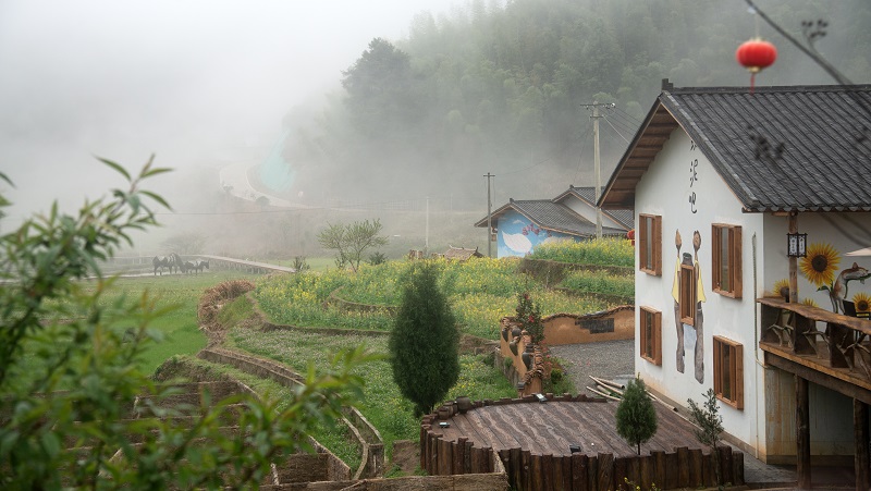
[(459, 377), (459, 331), (438, 274), (434, 263), (414, 265), (390, 333), (393, 380), (417, 417), (431, 412)]

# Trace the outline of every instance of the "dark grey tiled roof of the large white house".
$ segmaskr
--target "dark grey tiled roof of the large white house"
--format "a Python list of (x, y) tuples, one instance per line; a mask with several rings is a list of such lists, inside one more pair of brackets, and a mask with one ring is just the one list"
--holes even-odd
[(635, 187), (672, 131), (692, 138), (746, 211), (871, 210), (871, 85), (675, 88), (662, 94), (604, 186)]

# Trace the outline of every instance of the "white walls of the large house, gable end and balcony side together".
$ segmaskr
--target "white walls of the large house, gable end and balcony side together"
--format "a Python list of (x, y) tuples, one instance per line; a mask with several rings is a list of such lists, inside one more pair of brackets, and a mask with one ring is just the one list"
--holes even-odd
[[(651, 389), (677, 404), (686, 406), (688, 398), (699, 402), (702, 393), (713, 386), (713, 336), (726, 337), (744, 346), (745, 388), (743, 409), (720, 404), (726, 432), (760, 454), (766, 453), (774, 438), (771, 435), (777, 431), (783, 437), (776, 438), (793, 439), (795, 432), (789, 431), (789, 421), (766, 418), (766, 408), (774, 410), (795, 396), (789, 392), (792, 376), (764, 367), (758, 348), (756, 303), (757, 297), (781, 289), (788, 278), (786, 217), (743, 212), (726, 183), (679, 128), (636, 188), (636, 223), (639, 213), (662, 217), (662, 275), (636, 270), (636, 305), (662, 312), (662, 365), (639, 356), (637, 337), (636, 371)], [(871, 234), (863, 225), (871, 223), (870, 214), (799, 214), (799, 231), (808, 233), (809, 245), (808, 257), (799, 261), (799, 299), (841, 311), (839, 302), (848, 299), (858, 311), (869, 310), (871, 282), (864, 284), (862, 279), (869, 278), (871, 257), (854, 258), (845, 254), (871, 245)], [(741, 298), (713, 291), (710, 241), (714, 223), (741, 228)], [(676, 314), (675, 274), (682, 262), (694, 266), (698, 272), (695, 326), (682, 323)], [(636, 323), (640, 324), (638, 318)], [(774, 386), (766, 391), (766, 381), (780, 383), (780, 392)], [(827, 388), (811, 386), (810, 431), (814, 454), (851, 452), (851, 405), (838, 395)], [(780, 443), (776, 452), (794, 453), (794, 443)]]

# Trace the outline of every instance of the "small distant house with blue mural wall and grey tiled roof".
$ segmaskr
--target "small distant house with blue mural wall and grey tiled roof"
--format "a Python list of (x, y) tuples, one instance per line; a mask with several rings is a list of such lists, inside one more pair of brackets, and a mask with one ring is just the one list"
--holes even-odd
[[(556, 241), (596, 238), (592, 196), (592, 187), (569, 186), (566, 193), (553, 199), (510, 199), (489, 219), (491, 240), (496, 243), (496, 257), (524, 257), (537, 246)], [(631, 222), (627, 224), (625, 220), (630, 216), (631, 210), (602, 213), (602, 235), (626, 236)], [(475, 226), (487, 225), (487, 217), (475, 223)]]

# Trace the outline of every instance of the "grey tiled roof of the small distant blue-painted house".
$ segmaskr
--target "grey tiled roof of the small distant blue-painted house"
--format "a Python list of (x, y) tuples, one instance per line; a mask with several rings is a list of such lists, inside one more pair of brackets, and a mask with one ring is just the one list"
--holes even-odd
[[(508, 210), (517, 211), (544, 230), (584, 237), (596, 236), (596, 223), (581, 217), (572, 208), (550, 199), (511, 199), (491, 213), (492, 220)], [(487, 226), (487, 217), (475, 223), (475, 226)], [(626, 231), (619, 229), (602, 228), (604, 235), (623, 235), (625, 233)]]

